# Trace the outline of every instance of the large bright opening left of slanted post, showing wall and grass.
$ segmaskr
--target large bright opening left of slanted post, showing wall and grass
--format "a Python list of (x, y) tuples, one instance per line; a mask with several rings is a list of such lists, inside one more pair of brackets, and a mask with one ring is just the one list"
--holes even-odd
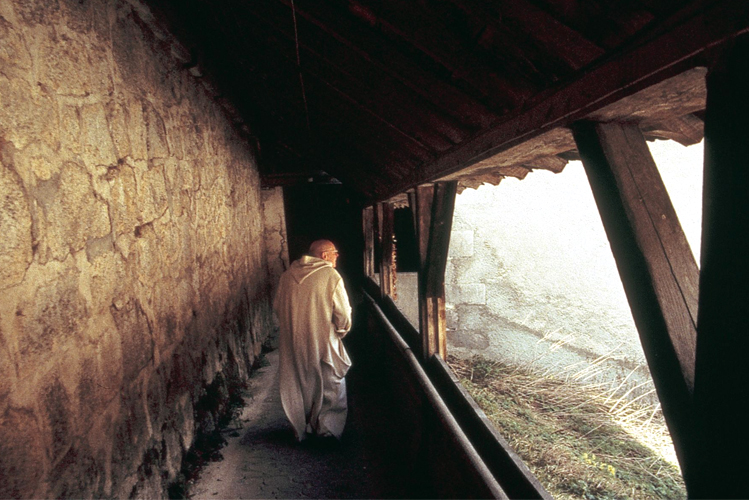
[(458, 195), (446, 301), (449, 363), (555, 498), (686, 495), (580, 162)]

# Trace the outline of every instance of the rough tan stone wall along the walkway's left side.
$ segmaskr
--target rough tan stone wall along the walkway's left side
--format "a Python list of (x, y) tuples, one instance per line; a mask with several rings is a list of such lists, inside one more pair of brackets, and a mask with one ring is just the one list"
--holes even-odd
[(255, 159), (180, 50), (0, 0), (2, 498), (163, 496), (271, 328)]

